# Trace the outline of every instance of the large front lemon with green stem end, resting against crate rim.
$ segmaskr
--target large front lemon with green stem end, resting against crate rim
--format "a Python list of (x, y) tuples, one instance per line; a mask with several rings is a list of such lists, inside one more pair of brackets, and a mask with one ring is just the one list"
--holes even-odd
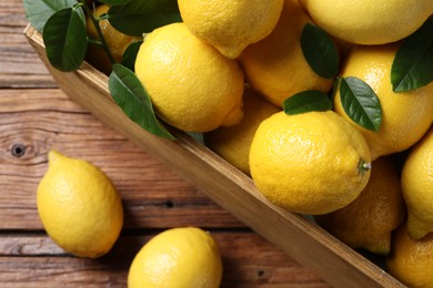
[(272, 203), (325, 214), (353, 202), (370, 177), (362, 134), (332, 111), (264, 120), (250, 148), (251, 176)]

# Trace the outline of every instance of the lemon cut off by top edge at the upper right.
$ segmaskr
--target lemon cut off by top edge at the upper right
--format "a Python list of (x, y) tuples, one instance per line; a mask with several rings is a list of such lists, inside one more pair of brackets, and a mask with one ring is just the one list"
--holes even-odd
[(385, 44), (412, 34), (433, 13), (431, 0), (301, 0), (330, 34), (358, 44)]

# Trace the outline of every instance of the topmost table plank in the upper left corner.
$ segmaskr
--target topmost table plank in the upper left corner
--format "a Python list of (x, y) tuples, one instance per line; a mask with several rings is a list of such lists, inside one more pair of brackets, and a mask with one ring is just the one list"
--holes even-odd
[(0, 88), (56, 88), (23, 35), (22, 0), (0, 2)]

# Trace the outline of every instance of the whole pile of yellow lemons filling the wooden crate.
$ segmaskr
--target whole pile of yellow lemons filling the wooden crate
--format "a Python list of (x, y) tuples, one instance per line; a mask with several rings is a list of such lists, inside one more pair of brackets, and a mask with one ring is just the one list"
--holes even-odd
[[(387, 270), (402, 282), (433, 286), (433, 83), (404, 93), (394, 93), (391, 85), (401, 40), (433, 14), (433, 1), (178, 4), (183, 22), (145, 34), (135, 61), (158, 116), (182, 131), (203, 133), (205, 144), (250, 175), (271, 203), (314, 215), (351, 247), (385, 255)], [(332, 80), (314, 73), (303, 55), (306, 23), (335, 40), (340, 75), (364, 81), (377, 95), (377, 132), (350, 120), (339, 92), (332, 111), (282, 111), (293, 94), (332, 90)], [(125, 48), (115, 41), (109, 45)], [(211, 240), (201, 240), (208, 241), (210, 255), (218, 255)], [(158, 249), (149, 247), (138, 258)], [(208, 276), (220, 279), (215, 259)], [(140, 282), (152, 278), (144, 274), (158, 264), (137, 260), (132, 267), (141, 274), (130, 280)], [(219, 281), (185, 287), (214, 285)]]

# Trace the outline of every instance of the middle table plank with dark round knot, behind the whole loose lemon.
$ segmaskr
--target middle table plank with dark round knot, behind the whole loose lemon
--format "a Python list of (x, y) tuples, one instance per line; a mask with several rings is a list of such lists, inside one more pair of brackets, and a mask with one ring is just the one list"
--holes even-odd
[[(21, 147), (23, 155), (13, 155)], [(125, 227), (244, 227), (60, 90), (0, 90), (0, 229), (40, 229), (36, 192), (47, 152), (101, 167), (123, 198)]]

